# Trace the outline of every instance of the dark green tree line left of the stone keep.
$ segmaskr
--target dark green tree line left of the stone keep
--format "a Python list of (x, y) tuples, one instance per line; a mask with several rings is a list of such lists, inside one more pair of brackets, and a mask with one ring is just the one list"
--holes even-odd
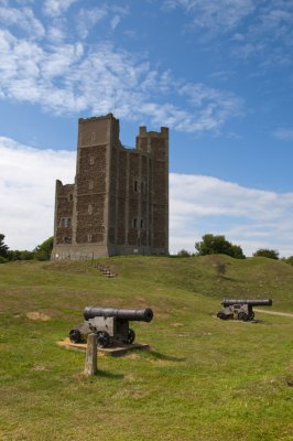
[(53, 249), (53, 237), (37, 245), (32, 251), (26, 249), (9, 249), (8, 245), (4, 243), (4, 238), (6, 236), (0, 233), (0, 263), (15, 260), (50, 260)]

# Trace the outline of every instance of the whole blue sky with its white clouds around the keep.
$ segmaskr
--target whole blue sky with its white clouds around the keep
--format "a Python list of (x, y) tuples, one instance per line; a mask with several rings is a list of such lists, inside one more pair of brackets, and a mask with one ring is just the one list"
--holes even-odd
[(0, 0), (0, 232), (52, 235), (79, 117), (170, 127), (171, 252), (225, 234), (293, 255), (293, 2)]

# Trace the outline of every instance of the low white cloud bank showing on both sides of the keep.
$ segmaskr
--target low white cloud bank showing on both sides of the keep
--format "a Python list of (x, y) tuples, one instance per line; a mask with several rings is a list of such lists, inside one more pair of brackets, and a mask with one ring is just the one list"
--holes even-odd
[[(53, 234), (55, 180), (73, 183), (75, 151), (37, 150), (0, 137), (0, 233), (11, 249)], [(246, 189), (211, 176), (170, 175), (170, 249), (194, 251), (206, 233), (225, 234), (247, 255), (293, 255), (293, 193)]]

